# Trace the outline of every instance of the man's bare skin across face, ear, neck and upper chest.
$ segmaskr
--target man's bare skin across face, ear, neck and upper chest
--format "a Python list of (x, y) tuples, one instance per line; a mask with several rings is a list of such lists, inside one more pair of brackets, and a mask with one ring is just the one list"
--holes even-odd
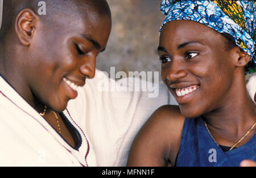
[[(77, 5), (73, 2), (73, 6)], [(81, 14), (55, 14), (54, 21), (37, 15), (30, 8), (19, 11), (5, 37), (0, 64), (3, 77), (36, 111), (43, 112), (47, 105), (44, 118), (56, 130), (52, 111), (57, 112), (61, 134), (72, 146), (75, 142), (59, 112), (64, 111), (69, 100), (77, 97), (77, 92), (63, 79), (84, 86), (86, 79), (94, 77), (96, 57), (106, 48), (111, 30), (110, 11), (105, 1), (80, 1), (79, 5)], [(62, 10), (69, 11), (67, 7)], [(106, 13), (101, 14), (100, 10)]]

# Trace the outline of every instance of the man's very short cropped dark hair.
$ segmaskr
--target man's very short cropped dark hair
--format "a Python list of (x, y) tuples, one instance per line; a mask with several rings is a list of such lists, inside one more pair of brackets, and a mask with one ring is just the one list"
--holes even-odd
[[(2, 28), (0, 29), (0, 44), (5, 43), (5, 37), (12, 27), (18, 13), (25, 9), (32, 9), (38, 14), (39, 0), (0, 0), (3, 2)], [(68, 16), (81, 18), (86, 15), (86, 10), (92, 9), (101, 15), (109, 15), (110, 9), (106, 0), (44, 0), (46, 3), (46, 15), (40, 15), (40, 18), (54, 22), (56, 17)], [(39, 14), (38, 14), (39, 15)], [(83, 16), (81, 16), (83, 15)]]

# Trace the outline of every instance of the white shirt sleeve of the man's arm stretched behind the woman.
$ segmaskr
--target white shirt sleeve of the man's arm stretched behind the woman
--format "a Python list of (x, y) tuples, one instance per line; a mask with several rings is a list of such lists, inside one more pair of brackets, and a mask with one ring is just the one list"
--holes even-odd
[(125, 166), (131, 142), (147, 118), (162, 105), (177, 104), (163, 82), (157, 84), (155, 98), (150, 98), (148, 91), (99, 90), (102, 83), (110, 88), (112, 84), (120, 86), (120, 81), (97, 70), (94, 79), (86, 80), (82, 95), (68, 105), (70, 111), (85, 118), (81, 125), (95, 151), (97, 166)]

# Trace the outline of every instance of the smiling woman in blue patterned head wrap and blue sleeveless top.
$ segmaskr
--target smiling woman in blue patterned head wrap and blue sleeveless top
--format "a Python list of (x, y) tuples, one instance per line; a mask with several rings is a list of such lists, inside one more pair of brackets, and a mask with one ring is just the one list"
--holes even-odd
[(150, 117), (127, 166), (255, 162), (256, 106), (245, 84), (256, 69), (254, 2), (166, 0), (161, 10), (162, 79), (179, 107)]

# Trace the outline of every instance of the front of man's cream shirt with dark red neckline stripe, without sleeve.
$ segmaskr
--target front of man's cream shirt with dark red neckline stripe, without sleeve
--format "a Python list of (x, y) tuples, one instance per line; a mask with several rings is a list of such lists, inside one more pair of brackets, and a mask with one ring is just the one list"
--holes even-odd
[(0, 166), (96, 166), (81, 118), (64, 114), (80, 134), (77, 150), (0, 77)]

